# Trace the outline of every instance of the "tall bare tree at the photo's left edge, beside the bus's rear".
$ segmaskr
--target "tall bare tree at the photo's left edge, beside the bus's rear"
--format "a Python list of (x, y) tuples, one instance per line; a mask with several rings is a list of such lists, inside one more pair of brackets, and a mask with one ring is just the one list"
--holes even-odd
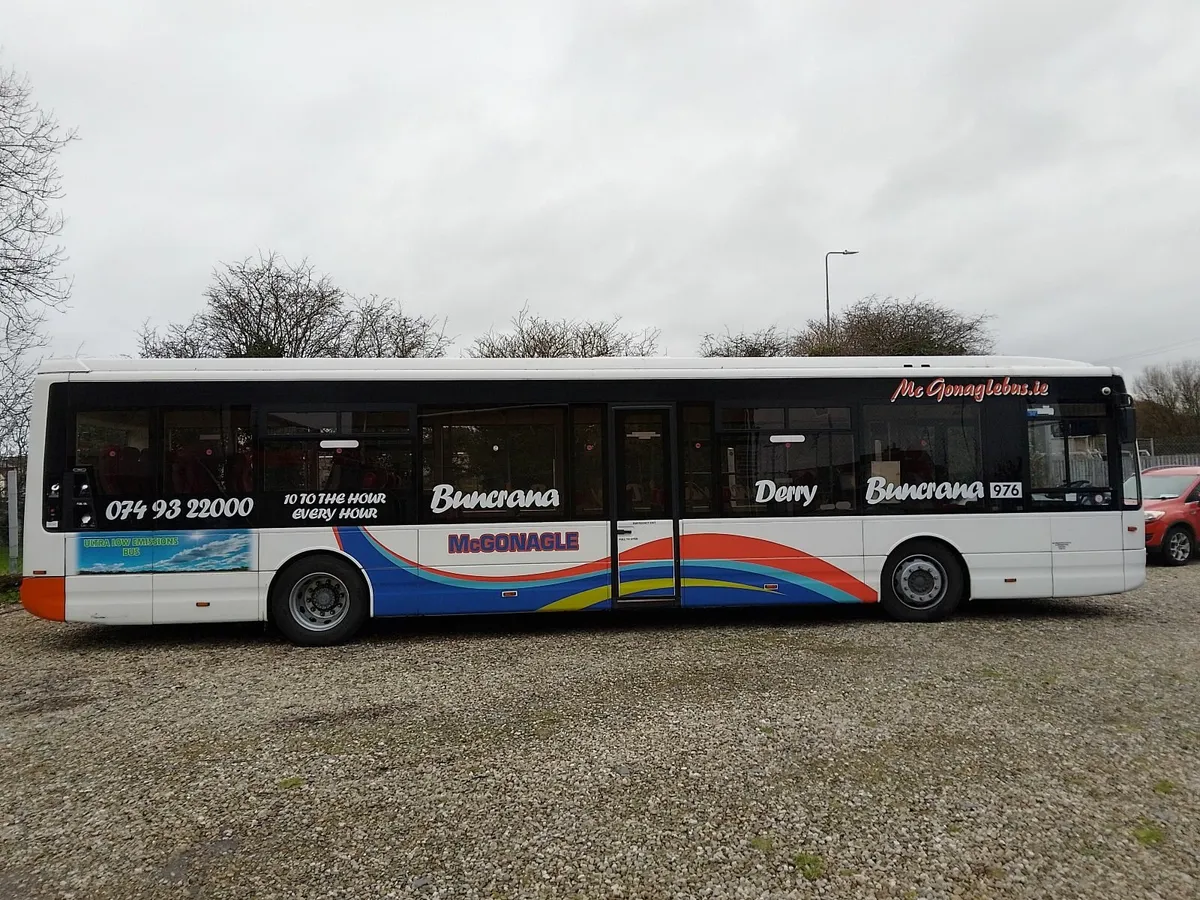
[(56, 238), (62, 214), (58, 154), (74, 139), (32, 98), (29, 79), (0, 71), (0, 452), (24, 457), (30, 384), (46, 347), (49, 312), (61, 310), (71, 281)]

